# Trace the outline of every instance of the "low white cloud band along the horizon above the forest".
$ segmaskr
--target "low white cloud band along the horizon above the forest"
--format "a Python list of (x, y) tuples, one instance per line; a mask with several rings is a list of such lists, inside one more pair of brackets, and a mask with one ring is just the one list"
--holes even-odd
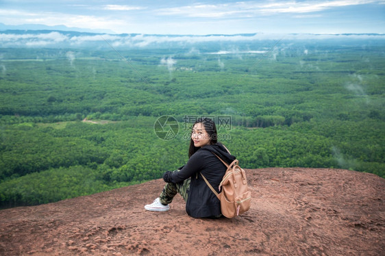
[[(105, 47), (149, 47), (156, 44), (179, 43), (198, 44), (205, 42), (253, 42), (258, 40), (306, 40), (306, 39), (385, 39), (385, 34), (249, 34), (249, 35), (208, 35), (208, 36), (166, 36), (145, 34), (80, 34), (72, 35), (65, 31), (49, 33), (8, 34), (0, 33), (0, 47), (86, 47), (87, 44), (100, 43)], [(257, 53), (257, 52), (256, 52)], [(213, 53), (219, 54), (219, 53)]]

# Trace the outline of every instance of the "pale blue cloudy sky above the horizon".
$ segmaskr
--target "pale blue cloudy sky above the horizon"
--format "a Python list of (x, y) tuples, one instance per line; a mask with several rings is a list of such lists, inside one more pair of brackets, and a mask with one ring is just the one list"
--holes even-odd
[(383, 34), (385, 0), (0, 0), (0, 23), (116, 34)]

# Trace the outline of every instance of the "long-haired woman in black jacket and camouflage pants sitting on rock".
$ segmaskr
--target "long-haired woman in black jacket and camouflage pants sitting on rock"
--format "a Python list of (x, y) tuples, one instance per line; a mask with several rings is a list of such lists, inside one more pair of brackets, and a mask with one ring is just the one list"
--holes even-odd
[(219, 183), (226, 172), (226, 166), (216, 157), (218, 155), (231, 164), (236, 157), (217, 142), (216, 126), (210, 118), (201, 118), (192, 127), (188, 162), (178, 170), (164, 172), (167, 183), (160, 196), (145, 209), (166, 212), (169, 203), (179, 193), (186, 201), (186, 212), (194, 218), (219, 218), (221, 202), (210, 190), (200, 174), (203, 174), (212, 187), (219, 192)]

